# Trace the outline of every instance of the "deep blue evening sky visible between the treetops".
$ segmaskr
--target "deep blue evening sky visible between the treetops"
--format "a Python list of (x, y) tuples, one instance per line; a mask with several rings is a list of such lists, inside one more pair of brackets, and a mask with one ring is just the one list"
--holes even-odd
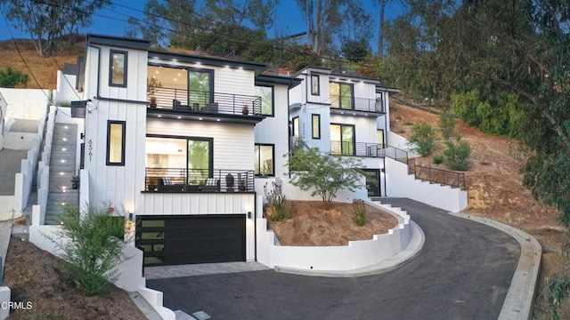
[[(371, 12), (372, 18), (375, 20), (371, 26), (375, 31), (376, 36), (378, 30), (378, 15), (379, 8), (374, 5), (374, 0), (361, 0), (362, 4)], [(81, 30), (82, 33), (96, 33), (101, 35), (109, 36), (124, 36), (125, 27), (127, 25), (126, 20), (129, 16), (135, 18), (142, 17), (142, 10), (144, 8), (145, 1), (142, 0), (112, 0), (116, 5), (113, 9), (104, 8), (98, 11), (94, 15), (94, 23), (91, 27)], [(387, 4), (386, 8), (386, 18), (387, 20), (392, 19), (400, 14), (402, 14), (403, 9), (400, 4), (396, 4), (398, 1), (391, 1)], [(125, 6), (125, 7), (123, 7)], [(128, 9), (128, 8), (132, 9)], [(10, 39), (11, 33), (7, 29), (6, 23), (3, 18), (0, 18), (0, 40)], [(281, 0), (280, 4), (277, 6), (277, 19), (273, 28), (277, 28), (278, 32), (284, 35), (292, 35), (300, 32), (306, 31), (305, 19), (303, 14), (297, 8), (297, 1), (295, 0)], [(10, 29), (15, 38), (28, 38), (26, 33), (13, 28), (10, 24)], [(274, 29), (270, 29), (267, 35), (273, 37)], [(375, 48), (376, 39), (371, 39), (372, 48)]]

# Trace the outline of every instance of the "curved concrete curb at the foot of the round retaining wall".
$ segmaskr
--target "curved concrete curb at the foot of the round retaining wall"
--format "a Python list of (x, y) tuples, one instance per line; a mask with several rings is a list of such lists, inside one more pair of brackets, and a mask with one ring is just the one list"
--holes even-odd
[(384, 272), (392, 271), (395, 268), (402, 266), (407, 261), (415, 257), (423, 248), (426, 242), (426, 235), (424, 231), (419, 228), (418, 224), (410, 220), (411, 225), (411, 239), (410, 244), (406, 246), (401, 252), (396, 253), (387, 260), (383, 260), (378, 264), (346, 271), (322, 271), (322, 270), (305, 270), (297, 268), (283, 268), (275, 266), (276, 272), (297, 275), (297, 276), (326, 276), (326, 277), (358, 277), (358, 276), (373, 276), (379, 275)]

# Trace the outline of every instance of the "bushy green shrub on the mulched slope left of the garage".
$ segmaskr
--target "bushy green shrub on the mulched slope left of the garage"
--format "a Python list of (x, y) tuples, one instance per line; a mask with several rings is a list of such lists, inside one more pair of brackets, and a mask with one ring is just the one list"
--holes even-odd
[(114, 268), (126, 259), (122, 250), (125, 220), (115, 216), (110, 204), (86, 204), (81, 212), (72, 205), (63, 206), (61, 234), (68, 240), (59, 242), (47, 236), (63, 252), (65, 270), (70, 280), (85, 295), (109, 294), (117, 280)]

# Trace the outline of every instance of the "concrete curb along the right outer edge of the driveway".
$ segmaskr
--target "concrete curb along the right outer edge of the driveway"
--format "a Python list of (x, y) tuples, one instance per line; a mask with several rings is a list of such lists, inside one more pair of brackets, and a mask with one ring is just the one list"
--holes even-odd
[(505, 301), (502, 304), (499, 319), (532, 319), (534, 291), (536, 290), (538, 274), (541, 269), (541, 244), (524, 231), (501, 222), (464, 213), (449, 213), (456, 217), (474, 220), (489, 227), (497, 228), (517, 240), (518, 244), (520, 244), (520, 258), (518, 259), (515, 274), (510, 282), (509, 292), (507, 292)]

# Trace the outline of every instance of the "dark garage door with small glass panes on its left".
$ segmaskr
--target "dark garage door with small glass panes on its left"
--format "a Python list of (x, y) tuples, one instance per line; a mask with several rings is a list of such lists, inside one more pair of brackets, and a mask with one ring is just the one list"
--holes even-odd
[(138, 216), (144, 266), (245, 261), (245, 214)]

